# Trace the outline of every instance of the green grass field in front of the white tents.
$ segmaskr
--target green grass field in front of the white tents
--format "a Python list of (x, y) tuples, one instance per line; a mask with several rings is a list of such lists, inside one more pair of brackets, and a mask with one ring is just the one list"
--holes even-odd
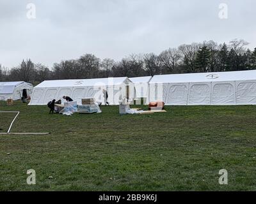
[[(108, 106), (71, 117), (20, 102), (0, 107), (17, 110), (12, 132), (51, 135), (0, 135), (1, 191), (256, 190), (256, 106), (167, 106), (150, 115)], [(14, 116), (0, 113), (0, 131)], [(36, 185), (26, 184), (29, 169)]]

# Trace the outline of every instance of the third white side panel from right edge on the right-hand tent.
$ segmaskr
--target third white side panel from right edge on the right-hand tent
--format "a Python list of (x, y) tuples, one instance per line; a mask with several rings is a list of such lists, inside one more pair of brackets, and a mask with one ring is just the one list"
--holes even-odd
[(188, 105), (211, 105), (211, 83), (190, 83)]

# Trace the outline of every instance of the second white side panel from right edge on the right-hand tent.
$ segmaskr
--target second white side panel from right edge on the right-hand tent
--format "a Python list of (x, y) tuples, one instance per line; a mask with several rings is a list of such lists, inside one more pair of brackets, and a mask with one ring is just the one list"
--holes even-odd
[(211, 105), (235, 105), (235, 82), (212, 82)]

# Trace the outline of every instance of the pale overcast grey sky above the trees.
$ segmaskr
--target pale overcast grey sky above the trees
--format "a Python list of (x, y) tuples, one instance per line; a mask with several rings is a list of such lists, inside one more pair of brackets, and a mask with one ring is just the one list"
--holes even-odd
[[(27, 17), (28, 3), (36, 18)], [(218, 17), (220, 3), (228, 18)], [(52, 66), (91, 53), (120, 60), (193, 41), (242, 38), (256, 47), (255, 0), (0, 0), (0, 64)]]

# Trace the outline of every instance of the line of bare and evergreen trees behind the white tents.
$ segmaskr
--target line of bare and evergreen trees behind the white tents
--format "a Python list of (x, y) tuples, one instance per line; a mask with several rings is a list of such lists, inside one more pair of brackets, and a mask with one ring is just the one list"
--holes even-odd
[(159, 55), (131, 54), (120, 61), (84, 54), (79, 59), (54, 63), (52, 68), (28, 59), (10, 69), (0, 64), (0, 81), (38, 83), (44, 80), (143, 77), (170, 73), (256, 69), (256, 48), (250, 50), (247, 45), (246, 41), (237, 39), (223, 44), (211, 40), (168, 48)]

